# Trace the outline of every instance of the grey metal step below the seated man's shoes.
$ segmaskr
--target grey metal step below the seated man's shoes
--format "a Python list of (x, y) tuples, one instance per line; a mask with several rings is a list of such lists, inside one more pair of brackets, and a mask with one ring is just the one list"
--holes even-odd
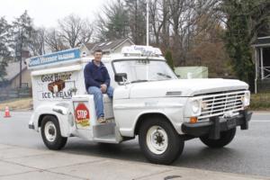
[(119, 129), (114, 122), (94, 125), (93, 132), (96, 142), (118, 144), (122, 141)]

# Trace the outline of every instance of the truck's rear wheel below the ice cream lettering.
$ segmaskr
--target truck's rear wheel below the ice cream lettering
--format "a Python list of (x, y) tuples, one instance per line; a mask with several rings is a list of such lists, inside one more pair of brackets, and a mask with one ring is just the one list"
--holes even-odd
[(58, 150), (64, 148), (67, 138), (61, 136), (61, 130), (56, 117), (46, 115), (41, 121), (41, 136), (47, 148)]

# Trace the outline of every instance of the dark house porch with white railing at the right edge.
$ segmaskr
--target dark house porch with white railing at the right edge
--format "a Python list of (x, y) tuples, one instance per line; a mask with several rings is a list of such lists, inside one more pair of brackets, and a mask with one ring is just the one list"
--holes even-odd
[(270, 90), (270, 36), (257, 38), (252, 47), (255, 49), (255, 93)]

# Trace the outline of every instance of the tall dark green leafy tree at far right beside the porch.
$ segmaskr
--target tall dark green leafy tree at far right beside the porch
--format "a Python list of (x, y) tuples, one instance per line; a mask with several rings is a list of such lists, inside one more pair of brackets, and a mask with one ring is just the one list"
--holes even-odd
[(223, 37), (231, 66), (239, 79), (253, 87), (255, 67), (251, 43), (270, 15), (269, 0), (227, 0), (222, 4), (227, 14), (227, 31)]

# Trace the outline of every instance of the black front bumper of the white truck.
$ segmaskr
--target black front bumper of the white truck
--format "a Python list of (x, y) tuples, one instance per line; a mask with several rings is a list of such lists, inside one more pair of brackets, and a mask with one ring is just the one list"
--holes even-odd
[(210, 121), (197, 123), (184, 122), (182, 124), (182, 131), (184, 134), (193, 137), (209, 134), (210, 139), (220, 139), (221, 131), (230, 130), (237, 126), (240, 126), (241, 130), (247, 130), (251, 115), (252, 112), (245, 110), (231, 118), (211, 117)]

